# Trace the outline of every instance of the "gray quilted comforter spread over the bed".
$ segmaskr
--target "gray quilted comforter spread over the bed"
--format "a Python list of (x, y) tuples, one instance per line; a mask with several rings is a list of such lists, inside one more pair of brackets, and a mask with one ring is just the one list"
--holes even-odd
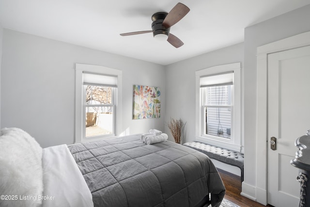
[(225, 194), (210, 159), (172, 142), (146, 145), (140, 135), (68, 145), (95, 207), (219, 206)]

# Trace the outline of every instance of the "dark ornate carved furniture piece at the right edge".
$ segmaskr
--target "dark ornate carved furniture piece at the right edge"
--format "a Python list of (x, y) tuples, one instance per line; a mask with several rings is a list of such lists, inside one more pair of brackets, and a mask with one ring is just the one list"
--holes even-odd
[(295, 159), (291, 160), (291, 164), (300, 169), (299, 176), (297, 176), (297, 181), (300, 182), (298, 207), (307, 207), (310, 205), (310, 185), (308, 183), (310, 175), (310, 130), (308, 130), (307, 135), (299, 137), (295, 141), (295, 145), (299, 150)]

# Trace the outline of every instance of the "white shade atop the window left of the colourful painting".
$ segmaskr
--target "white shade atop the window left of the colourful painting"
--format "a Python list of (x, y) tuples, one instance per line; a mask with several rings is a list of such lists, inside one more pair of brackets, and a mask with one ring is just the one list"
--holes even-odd
[(117, 87), (117, 76), (83, 72), (83, 85)]

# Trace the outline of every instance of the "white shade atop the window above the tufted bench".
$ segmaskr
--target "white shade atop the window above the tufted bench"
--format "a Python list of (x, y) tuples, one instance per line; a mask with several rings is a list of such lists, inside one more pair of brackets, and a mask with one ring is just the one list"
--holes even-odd
[(200, 77), (200, 87), (233, 85), (233, 71)]

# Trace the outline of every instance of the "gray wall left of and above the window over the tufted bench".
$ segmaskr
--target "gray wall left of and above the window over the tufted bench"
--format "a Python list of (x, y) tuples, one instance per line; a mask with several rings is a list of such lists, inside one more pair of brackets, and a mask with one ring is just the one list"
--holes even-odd
[[(197, 70), (241, 62), (243, 67), (243, 43), (205, 53), (166, 67), (166, 123), (170, 118), (181, 118), (186, 121), (185, 139), (195, 140), (196, 117), (196, 75)], [(243, 69), (242, 69), (243, 70)], [(166, 127), (166, 132), (170, 133)], [(172, 136), (169, 136), (172, 138)]]

